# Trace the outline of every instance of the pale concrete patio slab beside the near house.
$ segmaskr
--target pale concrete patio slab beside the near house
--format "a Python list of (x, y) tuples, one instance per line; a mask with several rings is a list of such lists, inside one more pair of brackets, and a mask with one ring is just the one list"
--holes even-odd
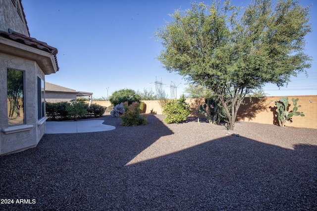
[(69, 122), (46, 122), (46, 134), (100, 132), (115, 129), (114, 126), (104, 125), (104, 120), (84, 120)]

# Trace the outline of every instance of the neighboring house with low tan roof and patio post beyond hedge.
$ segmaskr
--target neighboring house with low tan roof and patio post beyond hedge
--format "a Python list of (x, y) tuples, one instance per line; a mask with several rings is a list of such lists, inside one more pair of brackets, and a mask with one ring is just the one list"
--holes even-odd
[(45, 82), (45, 100), (46, 102), (55, 103), (61, 101), (70, 101), (77, 97), (89, 98), (89, 105), (92, 104), (93, 93), (76, 91), (75, 89)]

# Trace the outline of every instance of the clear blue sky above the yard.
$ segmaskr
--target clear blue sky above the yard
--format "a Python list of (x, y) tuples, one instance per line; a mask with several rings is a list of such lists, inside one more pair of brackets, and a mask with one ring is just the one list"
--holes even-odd
[[(74, 3), (76, 2), (76, 3)], [(178, 86), (177, 95), (188, 82), (169, 73), (156, 59), (162, 49), (153, 38), (155, 31), (169, 21), (175, 9), (190, 8), (190, 0), (23, 0), (31, 37), (58, 49), (59, 71), (46, 81), (78, 91), (93, 92), (94, 98), (110, 96), (115, 90), (131, 88), (155, 91), (154, 82)], [(209, 3), (211, 1), (205, 1)], [(234, 0), (234, 4), (248, 0)], [(315, 0), (302, 0), (303, 5)], [(313, 57), (312, 68), (292, 78), (288, 87), (267, 84), (267, 95), (317, 94), (317, 14), (311, 13), (313, 32), (306, 37), (306, 53)], [(108, 90), (108, 93), (107, 93)]]

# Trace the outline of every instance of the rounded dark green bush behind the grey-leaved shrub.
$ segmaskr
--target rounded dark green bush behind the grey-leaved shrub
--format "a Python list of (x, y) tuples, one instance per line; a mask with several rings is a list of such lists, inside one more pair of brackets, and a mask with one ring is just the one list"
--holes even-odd
[(113, 106), (123, 102), (128, 102), (128, 104), (131, 105), (133, 102), (140, 102), (140, 100), (141, 96), (139, 94), (134, 90), (127, 88), (114, 91), (109, 97), (109, 101)]

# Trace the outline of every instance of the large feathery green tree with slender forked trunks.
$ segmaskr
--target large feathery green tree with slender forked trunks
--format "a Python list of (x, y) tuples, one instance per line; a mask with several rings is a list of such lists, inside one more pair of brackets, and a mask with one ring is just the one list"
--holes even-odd
[(298, 0), (252, 0), (242, 8), (226, 0), (211, 6), (192, 3), (176, 10), (156, 32), (163, 50), (158, 59), (169, 72), (209, 87), (233, 130), (246, 94), (266, 83), (287, 85), (290, 76), (310, 68), (303, 50), (311, 32), (310, 6)]

